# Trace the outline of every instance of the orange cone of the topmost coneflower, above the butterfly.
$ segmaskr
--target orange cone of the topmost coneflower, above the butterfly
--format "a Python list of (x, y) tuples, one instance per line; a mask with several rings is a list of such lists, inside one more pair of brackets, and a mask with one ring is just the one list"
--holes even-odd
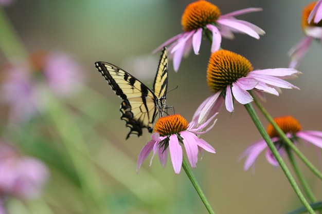
[(220, 15), (221, 12), (216, 5), (200, 0), (186, 7), (181, 18), (181, 25), (184, 31), (191, 31), (215, 23)]

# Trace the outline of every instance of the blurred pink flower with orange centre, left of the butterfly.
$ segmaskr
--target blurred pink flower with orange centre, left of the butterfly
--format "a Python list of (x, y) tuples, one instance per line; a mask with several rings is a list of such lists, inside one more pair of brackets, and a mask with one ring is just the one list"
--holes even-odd
[(67, 54), (35, 52), (30, 59), (15, 61), (2, 70), (2, 100), (10, 105), (12, 121), (29, 119), (43, 110), (48, 89), (66, 97), (77, 92), (84, 81), (82, 69)]

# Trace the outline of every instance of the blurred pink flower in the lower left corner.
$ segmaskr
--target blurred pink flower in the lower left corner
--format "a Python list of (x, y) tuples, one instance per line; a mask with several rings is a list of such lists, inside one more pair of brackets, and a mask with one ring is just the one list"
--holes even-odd
[(21, 156), (13, 147), (0, 143), (0, 192), (21, 199), (34, 199), (49, 176), (39, 160)]

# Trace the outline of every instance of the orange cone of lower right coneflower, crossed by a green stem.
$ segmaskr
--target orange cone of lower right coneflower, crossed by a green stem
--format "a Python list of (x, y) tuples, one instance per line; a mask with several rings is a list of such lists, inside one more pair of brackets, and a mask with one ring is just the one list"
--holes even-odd
[[(281, 116), (280, 118), (274, 118), (275, 123), (282, 129), (284, 133), (296, 133), (302, 130), (301, 124), (293, 118), (293, 116)], [(267, 126), (267, 133), (269, 134), (270, 138), (279, 137), (279, 134), (274, 129), (272, 124)]]

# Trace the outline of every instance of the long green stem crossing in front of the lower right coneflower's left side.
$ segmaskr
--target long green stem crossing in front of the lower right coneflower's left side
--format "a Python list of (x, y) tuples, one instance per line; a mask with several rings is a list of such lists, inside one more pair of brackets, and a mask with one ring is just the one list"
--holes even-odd
[(271, 138), (269, 137), (269, 135), (267, 134), (267, 132), (265, 131), (262, 123), (260, 122), (254, 108), (253, 105), (251, 103), (245, 104), (244, 105), (247, 112), (249, 113), (249, 115), (251, 116), (254, 124), (256, 125), (259, 133), (262, 135), (263, 139), (266, 141), (267, 146), (269, 146), (269, 148), (271, 149), (275, 159), (277, 160), (277, 162), (279, 163), (279, 165), (281, 166), (285, 176), (287, 177), (287, 179), (289, 180), (291, 186), (293, 187), (295, 193), (297, 194), (297, 197), (299, 198), (299, 200), (302, 202), (302, 204), (306, 207), (306, 209), (308, 210), (309, 213), (314, 214), (314, 210), (312, 209), (312, 207), (310, 206), (309, 202), (306, 200), (306, 198), (303, 196), (303, 193), (301, 192), (301, 190), (299, 189), (298, 185), (296, 184), (290, 170), (288, 169), (288, 167), (286, 166), (286, 164), (284, 163), (283, 159), (281, 158), (280, 154), (278, 153), (274, 143), (272, 142)]

